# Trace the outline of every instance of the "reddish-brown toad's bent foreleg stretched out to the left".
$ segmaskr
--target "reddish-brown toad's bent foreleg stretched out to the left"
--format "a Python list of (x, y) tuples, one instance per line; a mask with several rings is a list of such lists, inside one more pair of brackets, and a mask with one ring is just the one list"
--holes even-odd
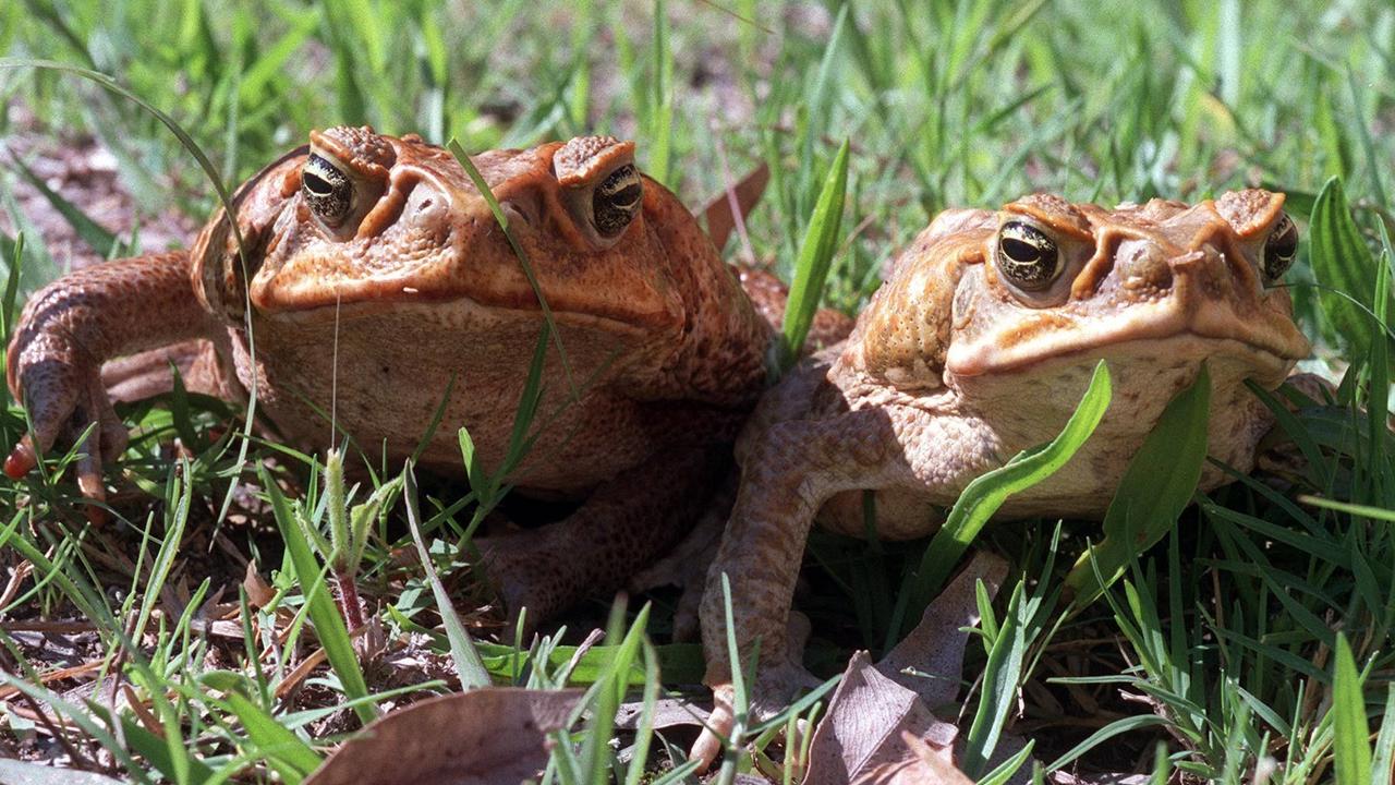
[(103, 499), (102, 458), (126, 448), (126, 426), (102, 383), (105, 360), (218, 330), (194, 293), (188, 253), (146, 254), (70, 272), (29, 299), (6, 363), (10, 391), (29, 411), (32, 430), (10, 451), (14, 479), (60, 439), (86, 434), (78, 487)]

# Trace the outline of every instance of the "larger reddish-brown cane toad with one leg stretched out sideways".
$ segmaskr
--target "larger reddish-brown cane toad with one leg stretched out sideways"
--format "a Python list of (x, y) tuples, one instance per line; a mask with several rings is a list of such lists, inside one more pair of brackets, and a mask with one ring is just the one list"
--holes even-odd
[[(579, 137), (473, 158), (558, 328), (534, 420), (547, 430), (508, 480), (585, 499), (557, 527), (485, 548), (505, 599), (534, 619), (615, 588), (684, 532), (720, 485), (714, 446), (735, 439), (764, 387), (770, 324), (633, 149)], [(247, 399), (255, 386), (258, 415), (293, 444), (332, 444), (332, 413), (339, 439), (389, 471), (449, 390), (420, 462), (460, 474), (463, 425), (483, 467), (501, 465), (544, 320), (519, 254), (449, 152), (371, 129), (312, 133), (236, 203), (246, 268), (219, 211), (190, 251), (80, 270), (29, 300), (8, 383), (33, 430), (10, 454), (10, 476), (33, 467), (35, 446), (95, 423), (78, 482), (102, 499), (100, 461), (127, 441), (103, 362), (170, 346), (191, 388)], [(770, 291), (755, 282), (757, 298)], [(120, 397), (167, 390), (163, 356), (117, 379)]]

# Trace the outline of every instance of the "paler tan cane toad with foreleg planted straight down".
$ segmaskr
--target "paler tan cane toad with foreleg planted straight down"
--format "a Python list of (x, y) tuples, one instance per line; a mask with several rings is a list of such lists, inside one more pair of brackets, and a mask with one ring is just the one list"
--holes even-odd
[[(760, 644), (753, 700), (778, 705), (804, 682), (785, 626), (813, 521), (865, 534), (866, 489), (877, 536), (930, 534), (971, 479), (1060, 432), (1099, 359), (1115, 386), (1103, 422), (1000, 517), (1102, 515), (1202, 360), (1209, 454), (1249, 469), (1272, 420), (1243, 381), (1272, 390), (1309, 352), (1275, 286), (1297, 243), (1282, 205), (1261, 190), (1116, 210), (1032, 196), (937, 217), (850, 339), (773, 388), (741, 437), (741, 490), (702, 603), (716, 729), (731, 726), (723, 575), (741, 651)], [(1223, 480), (1208, 467), (1201, 486)], [(695, 753), (710, 760), (714, 742)]]

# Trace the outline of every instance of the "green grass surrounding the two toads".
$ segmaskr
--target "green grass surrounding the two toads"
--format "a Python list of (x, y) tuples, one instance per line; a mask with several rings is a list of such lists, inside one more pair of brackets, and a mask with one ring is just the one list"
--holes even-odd
[[(1046, 770), (1137, 764), (1156, 781), (1239, 782), (1272, 767), (1271, 781), (1343, 785), (1391, 771), (1395, 444), (1385, 429), (1389, 345), (1381, 337), (1391, 332), (1374, 318), (1388, 314), (1395, 260), (1388, 3), (1152, 0), (1103, 10), (1084, 1), (844, 8), (505, 0), (445, 8), (24, 0), (0, 4), (0, 53), (98, 71), (120, 85), (113, 92), (71, 70), (0, 68), (0, 98), (22, 108), (0, 115), (0, 138), (22, 142), (32, 168), (93, 137), (114, 155), (137, 219), (174, 211), (202, 222), (219, 198), (215, 180), (232, 187), (329, 124), (455, 138), (472, 152), (614, 133), (635, 138), (640, 166), (693, 207), (720, 191), (724, 172), (739, 177), (767, 163), (770, 189), (748, 221), (751, 251), (787, 281), (798, 268), (810, 281), (801, 298), (810, 306), (826, 272), (823, 303), (848, 311), (876, 289), (890, 256), (949, 205), (992, 207), (1034, 190), (1099, 203), (1196, 200), (1244, 184), (1288, 191), (1304, 229), (1290, 291), (1315, 341), (1313, 367), (1341, 381), (1334, 401), (1299, 399), (1293, 413), (1281, 404), (1288, 392), (1264, 395), (1307, 465), (1283, 492), (1239, 478), (1197, 494), (1154, 548), (1115, 553), (1108, 564), (1081, 560), (1077, 582), (1081, 568), (1098, 578), (1123, 573), (1084, 608), (1062, 602), (1062, 587), (1085, 541), (1101, 541), (1099, 524), (1043, 520), (978, 534), (975, 543), (1013, 562), (1013, 577), (996, 603), (985, 603), (982, 647), (970, 647), (965, 673), (985, 679), (961, 696), (972, 717), (965, 760), (975, 775), (989, 774), (985, 761), (1006, 732), (1031, 736)], [(0, 161), (0, 212), (25, 230), (22, 242), (0, 236), (8, 337), (24, 296), (64, 260), (31, 230), (14, 196), (33, 177)], [(826, 189), (829, 182), (840, 186)], [(844, 193), (841, 210), (834, 190)], [(53, 200), (96, 254), (141, 246), (138, 232), (112, 236), (61, 193)], [(725, 250), (745, 249), (732, 239)], [(792, 334), (799, 330), (792, 321)], [(0, 444), (8, 446), (25, 420), (8, 392), (0, 395)], [(151, 499), (119, 506), (126, 517), (107, 529), (85, 525), (71, 480), (57, 471), (0, 487), (0, 557), (10, 570), (32, 566), (0, 608), (0, 687), (71, 722), (60, 731), (70, 765), (99, 767), (100, 758), (109, 772), (138, 781), (250, 782), (276, 772), (294, 782), (356, 728), (346, 715), (368, 718), (384, 703), (455, 686), (455, 677), (423, 677), (386, 690), (359, 672), (329, 608), (332, 573), (296, 535), (296, 510), (329, 520), (315, 458), (243, 440), (223, 427), (229, 411), (218, 402), (181, 394), (165, 402), (123, 409), (138, 430), (109, 476), (120, 474)], [(527, 401), (520, 408), (529, 416), (515, 443), (529, 446), (533, 411)], [(176, 436), (183, 458), (167, 448)], [(360, 521), (370, 532), (357, 581), (375, 602), (370, 609), (391, 640), (427, 641), (445, 673), (469, 659), (460, 633), (474, 620), (456, 598), (465, 619), (441, 622), (441, 580), (453, 575), (459, 587), (458, 545), (477, 525), (476, 510), (506, 492), (504, 472), (474, 465), (467, 444), (463, 434), (462, 474), (480, 487), (423, 496), (413, 514), (432, 570), (421, 570), (405, 527)], [(361, 503), (402, 471), (377, 468), (372, 486), (342, 504)], [(237, 508), (247, 506), (264, 527), (280, 522), (285, 556), (219, 521), (234, 478), (269, 493)], [(278, 483), (300, 499), (282, 499)], [(481, 500), (488, 504), (474, 504)], [(271, 595), (239, 589), (240, 574), (206, 580), (206, 559), (194, 555), (211, 536), (255, 562), (272, 580)], [(403, 562), (400, 553), (413, 556)], [(809, 663), (836, 673), (851, 650), (894, 640), (905, 617), (894, 610), (894, 587), (910, 585), (923, 556), (925, 542), (816, 535), (802, 599), (816, 630)], [(946, 556), (929, 559), (943, 574)], [(219, 589), (222, 603), (240, 605), (233, 638), (206, 633), (202, 603)], [(586, 705), (608, 708), (624, 684), (632, 700), (653, 700), (700, 676), (692, 647), (656, 647), (643, 634), (646, 623), (664, 629), (671, 601), (660, 594), (639, 617), (603, 624), (611, 630), (605, 645), (576, 662), (575, 636), (530, 645), (511, 633), (490, 641), (472, 631), (497, 683), (571, 680), (590, 686)], [(80, 696), (61, 694), (75, 682), (45, 683), (53, 665), (33, 659), (32, 637), (20, 629), (40, 617), (88, 620), (84, 659), (121, 675), (145, 698), (144, 714), (84, 707)], [(329, 663), (297, 672), (319, 645)], [(6, 705), (0, 754), (32, 749), (35, 739), (53, 743), (47, 728), (15, 711), (25, 700)], [(762, 771), (794, 777), (781, 770), (783, 733), (764, 731), (748, 728), (762, 740)], [(557, 753), (552, 781), (643, 781), (640, 764), (614, 758), (614, 733), (596, 714), (573, 725), (568, 738), (578, 744)], [(650, 761), (672, 760), (670, 781), (691, 779), (682, 744), (670, 747), (664, 733), (618, 736), (647, 749)], [(724, 775), (751, 765), (744, 757)]]

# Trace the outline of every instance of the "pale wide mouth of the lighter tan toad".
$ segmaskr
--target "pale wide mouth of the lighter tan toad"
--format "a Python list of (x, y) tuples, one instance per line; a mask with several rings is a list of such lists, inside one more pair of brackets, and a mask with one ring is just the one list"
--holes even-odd
[(1010, 328), (960, 334), (944, 365), (956, 376), (976, 377), (1091, 356), (1136, 365), (1200, 363), (1208, 356), (1226, 356), (1253, 366), (1254, 377), (1282, 380), (1309, 352), (1307, 338), (1278, 310), (1242, 317), (1219, 306), (1183, 313), (1159, 303), (1105, 324), (1043, 314)]

